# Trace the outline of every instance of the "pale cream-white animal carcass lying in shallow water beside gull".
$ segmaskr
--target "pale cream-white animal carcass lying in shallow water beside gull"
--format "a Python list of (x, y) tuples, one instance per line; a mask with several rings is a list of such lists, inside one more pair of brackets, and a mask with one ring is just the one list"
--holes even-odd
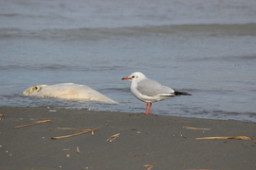
[(86, 100), (86, 101), (101, 101), (108, 103), (117, 103), (107, 96), (99, 93), (88, 86), (61, 83), (55, 85), (38, 85), (28, 88), (25, 95), (39, 96), (39, 97), (54, 97), (65, 100)]

